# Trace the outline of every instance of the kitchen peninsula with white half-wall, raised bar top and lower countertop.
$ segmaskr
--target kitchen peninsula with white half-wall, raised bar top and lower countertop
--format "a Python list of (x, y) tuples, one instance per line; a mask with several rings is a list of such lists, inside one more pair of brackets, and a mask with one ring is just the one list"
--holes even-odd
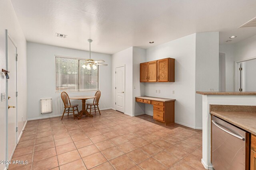
[[(202, 95), (202, 164), (213, 169), (211, 161), (212, 115), (254, 134), (254, 126), (246, 119), (255, 119), (256, 92), (196, 92)], [(241, 118), (244, 114), (244, 118)], [(244, 120), (244, 121), (243, 121)], [(255, 122), (255, 121), (254, 121)]]

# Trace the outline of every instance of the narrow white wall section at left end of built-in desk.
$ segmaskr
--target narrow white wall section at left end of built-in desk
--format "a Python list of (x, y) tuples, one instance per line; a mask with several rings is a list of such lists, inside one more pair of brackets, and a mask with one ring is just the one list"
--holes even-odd
[(146, 50), (138, 47), (132, 47), (132, 104), (133, 115), (145, 114), (145, 104), (136, 102), (136, 96), (145, 96), (146, 88), (145, 83), (140, 82), (140, 63), (146, 62)]

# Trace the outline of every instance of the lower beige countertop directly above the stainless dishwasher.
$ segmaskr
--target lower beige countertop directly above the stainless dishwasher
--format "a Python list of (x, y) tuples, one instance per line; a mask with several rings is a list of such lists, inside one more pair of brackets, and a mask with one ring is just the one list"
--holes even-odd
[(211, 111), (211, 114), (256, 135), (255, 112)]

